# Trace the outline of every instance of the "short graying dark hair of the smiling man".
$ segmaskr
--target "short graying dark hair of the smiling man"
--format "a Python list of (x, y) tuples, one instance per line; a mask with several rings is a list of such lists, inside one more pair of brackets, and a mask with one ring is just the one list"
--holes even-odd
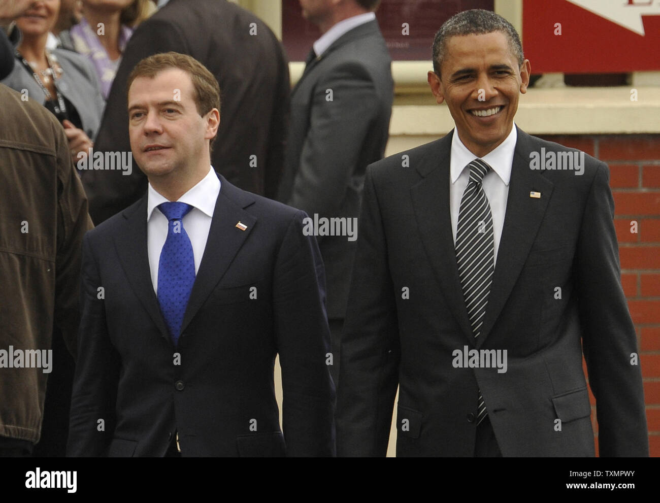
[(475, 35), (492, 32), (502, 32), (509, 39), (513, 55), (518, 60), (518, 65), (525, 61), (523, 44), (520, 42), (518, 32), (505, 18), (492, 11), (484, 9), (472, 9), (453, 15), (447, 19), (433, 40), (433, 71), (440, 77), (442, 59), (447, 49), (447, 40), (453, 36)]

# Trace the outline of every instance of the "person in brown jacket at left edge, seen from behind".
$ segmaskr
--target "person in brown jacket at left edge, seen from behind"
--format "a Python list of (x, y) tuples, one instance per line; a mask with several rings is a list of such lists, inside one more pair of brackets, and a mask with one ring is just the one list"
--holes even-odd
[(67, 138), (0, 84), (0, 457), (40, 440), (53, 327), (75, 358), (82, 236), (92, 228)]

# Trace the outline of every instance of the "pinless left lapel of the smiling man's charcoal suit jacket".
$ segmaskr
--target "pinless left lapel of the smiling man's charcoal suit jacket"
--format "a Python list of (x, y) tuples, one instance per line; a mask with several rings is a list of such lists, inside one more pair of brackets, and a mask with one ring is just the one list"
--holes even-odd
[(453, 131), (450, 131), (444, 138), (438, 140), (416, 166), (417, 171), (424, 178), (411, 187), (411, 197), (428, 260), (440, 283), (449, 309), (472, 343), (474, 337), (461, 293), (449, 213), (449, 154), (452, 135)]

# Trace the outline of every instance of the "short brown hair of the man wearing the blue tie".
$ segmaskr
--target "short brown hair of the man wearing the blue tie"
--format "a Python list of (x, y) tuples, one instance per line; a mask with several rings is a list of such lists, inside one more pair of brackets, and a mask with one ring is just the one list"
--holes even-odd
[[(201, 117), (211, 112), (213, 108), (220, 110), (220, 84), (213, 73), (194, 57), (178, 52), (154, 54), (137, 63), (128, 77), (126, 94), (128, 95), (131, 84), (138, 77), (153, 79), (158, 73), (170, 68), (183, 70), (190, 77), (195, 90), (193, 99)], [(211, 145), (216, 137), (211, 139)]]

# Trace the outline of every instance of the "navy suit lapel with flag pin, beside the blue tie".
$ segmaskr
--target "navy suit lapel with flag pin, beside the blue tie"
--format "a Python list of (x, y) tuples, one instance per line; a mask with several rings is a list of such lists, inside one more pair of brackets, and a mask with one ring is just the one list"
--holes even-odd
[[(245, 211), (246, 207), (254, 203), (253, 195), (234, 187), (220, 175), (218, 178), (220, 193), (216, 199), (204, 255), (183, 315), (182, 333), (216, 288), (257, 222), (257, 218)], [(237, 228), (238, 222), (247, 226), (246, 230)]]

